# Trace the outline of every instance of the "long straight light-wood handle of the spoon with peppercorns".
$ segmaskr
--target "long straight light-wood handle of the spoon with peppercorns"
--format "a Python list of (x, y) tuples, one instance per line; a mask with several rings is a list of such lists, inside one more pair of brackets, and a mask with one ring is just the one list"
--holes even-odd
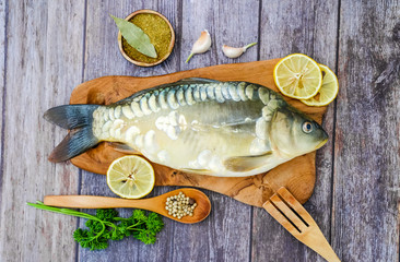
[(46, 205), (74, 209), (136, 207), (153, 210), (149, 200), (126, 200), (94, 195), (46, 195), (44, 203)]

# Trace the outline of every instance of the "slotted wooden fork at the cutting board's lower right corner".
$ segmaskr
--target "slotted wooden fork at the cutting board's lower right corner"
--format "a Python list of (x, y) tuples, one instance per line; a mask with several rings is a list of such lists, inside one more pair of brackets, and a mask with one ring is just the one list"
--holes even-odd
[(269, 201), (263, 203), (262, 207), (290, 234), (323, 259), (329, 262), (340, 262), (317, 223), (287, 189), (280, 188)]

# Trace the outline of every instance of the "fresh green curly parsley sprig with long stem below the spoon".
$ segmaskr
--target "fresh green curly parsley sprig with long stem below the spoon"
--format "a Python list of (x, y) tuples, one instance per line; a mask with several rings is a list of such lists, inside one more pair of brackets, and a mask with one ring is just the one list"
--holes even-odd
[(125, 237), (133, 238), (149, 245), (154, 243), (156, 234), (160, 233), (164, 223), (156, 213), (145, 213), (141, 210), (133, 210), (128, 218), (119, 217), (116, 210), (96, 210), (96, 215), (90, 215), (69, 209), (59, 209), (37, 201), (37, 203), (27, 203), (39, 210), (50, 211), (64, 215), (86, 218), (87, 229), (78, 228), (73, 233), (73, 238), (82, 248), (91, 250), (106, 249), (108, 239), (121, 240)]

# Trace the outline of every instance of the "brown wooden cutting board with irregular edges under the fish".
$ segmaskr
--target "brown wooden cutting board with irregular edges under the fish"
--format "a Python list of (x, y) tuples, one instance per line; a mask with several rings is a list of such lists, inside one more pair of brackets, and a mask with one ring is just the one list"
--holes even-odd
[[(273, 67), (278, 61), (279, 59), (272, 59), (221, 64), (151, 78), (104, 76), (78, 85), (71, 94), (70, 103), (109, 105), (141, 90), (195, 76), (220, 81), (247, 81), (278, 91), (272, 79)], [(287, 98), (286, 100), (316, 121), (321, 122), (326, 107), (308, 107), (295, 99)], [(101, 143), (71, 162), (82, 169), (104, 175), (109, 164), (122, 155), (108, 143)], [(192, 175), (154, 164), (155, 183), (156, 186), (189, 186), (209, 189), (255, 206), (261, 206), (279, 188), (286, 187), (299, 202), (305, 203), (314, 190), (315, 156), (315, 152), (309, 153), (266, 174), (242, 178)]]

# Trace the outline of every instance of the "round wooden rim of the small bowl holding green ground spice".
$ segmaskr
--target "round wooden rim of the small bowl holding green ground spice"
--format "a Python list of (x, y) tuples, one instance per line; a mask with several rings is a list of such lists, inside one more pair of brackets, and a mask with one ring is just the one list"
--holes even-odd
[(134, 15), (137, 15), (137, 14), (143, 14), (143, 13), (150, 13), (150, 14), (158, 15), (160, 17), (162, 17), (168, 24), (169, 29), (170, 29), (170, 43), (169, 43), (169, 47), (168, 47), (168, 52), (163, 58), (161, 58), (160, 60), (157, 60), (155, 62), (152, 62), (152, 63), (141, 62), (141, 61), (133, 60), (130, 57), (128, 57), (128, 55), (125, 52), (125, 50), (122, 48), (122, 35), (121, 35), (120, 32), (118, 32), (118, 47), (119, 47), (119, 51), (122, 53), (122, 56), (125, 57), (125, 59), (127, 59), (129, 62), (131, 62), (131, 63), (133, 63), (136, 66), (139, 66), (139, 67), (146, 67), (146, 68), (149, 68), (149, 67), (154, 67), (154, 66), (163, 62), (165, 59), (167, 59), (169, 57), (170, 52), (173, 51), (174, 45), (175, 45), (175, 32), (174, 32), (174, 28), (170, 25), (169, 21), (164, 15), (162, 15), (161, 13), (158, 13), (156, 11), (149, 10), (149, 9), (143, 9), (143, 10), (134, 11), (133, 13), (129, 14), (125, 20), (126, 21), (129, 21)]

